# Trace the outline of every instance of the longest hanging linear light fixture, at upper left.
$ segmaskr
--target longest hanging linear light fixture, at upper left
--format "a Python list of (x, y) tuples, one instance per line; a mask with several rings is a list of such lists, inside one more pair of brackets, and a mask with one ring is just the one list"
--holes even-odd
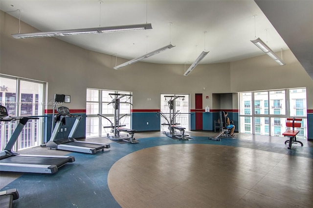
[(50, 32), (37, 32), (37, 33), (19, 33), (19, 34), (12, 34), (12, 36), (16, 39), (28, 39), (28, 38), (46, 38), (46, 37), (59, 37), (59, 36), (69, 36), (69, 35), (95, 34), (95, 33), (112, 33), (112, 32), (147, 30), (147, 29), (152, 29), (151, 23), (59, 30), (59, 31), (50, 31)]

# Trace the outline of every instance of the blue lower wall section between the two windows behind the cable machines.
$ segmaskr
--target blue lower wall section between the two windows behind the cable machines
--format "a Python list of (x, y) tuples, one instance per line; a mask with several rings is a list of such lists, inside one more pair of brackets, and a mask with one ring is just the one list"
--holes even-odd
[(132, 113), (132, 129), (136, 131), (159, 131), (160, 122), (160, 116), (156, 112)]

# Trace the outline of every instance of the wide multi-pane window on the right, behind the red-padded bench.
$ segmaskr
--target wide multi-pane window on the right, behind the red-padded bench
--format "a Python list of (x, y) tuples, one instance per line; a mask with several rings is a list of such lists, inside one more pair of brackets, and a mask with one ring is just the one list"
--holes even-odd
[(307, 139), (305, 88), (239, 93), (240, 132), (282, 136), (287, 118), (301, 118), (298, 139)]

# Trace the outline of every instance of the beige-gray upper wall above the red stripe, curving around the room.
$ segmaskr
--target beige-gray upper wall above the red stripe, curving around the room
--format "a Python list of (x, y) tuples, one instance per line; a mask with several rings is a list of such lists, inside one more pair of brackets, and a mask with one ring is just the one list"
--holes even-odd
[[(283, 52), (285, 66), (264, 55), (237, 62), (200, 64), (187, 77), (183, 76), (183, 64), (137, 62), (115, 70), (112, 55), (56, 38), (14, 39), (11, 34), (17, 33), (18, 20), (2, 11), (0, 15), (0, 73), (48, 83), (46, 101), (55, 93), (68, 94), (69, 108), (86, 108), (87, 87), (132, 91), (134, 109), (159, 109), (161, 93), (190, 94), (192, 109), (196, 93), (203, 94), (203, 108), (208, 105), (210, 109), (215, 107), (212, 108), (213, 93), (233, 93), (232, 104), (225, 105), (238, 109), (237, 92), (307, 87), (308, 109), (313, 109), (313, 81), (290, 50)], [(22, 33), (35, 31), (21, 22)], [(255, 46), (251, 43), (251, 47)], [(125, 61), (118, 58), (117, 64)]]

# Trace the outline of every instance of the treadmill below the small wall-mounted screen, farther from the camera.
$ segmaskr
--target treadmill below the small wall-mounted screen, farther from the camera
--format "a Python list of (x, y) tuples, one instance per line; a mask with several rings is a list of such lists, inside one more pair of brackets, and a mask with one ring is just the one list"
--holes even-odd
[[(58, 112), (58, 114), (55, 116), (56, 124), (53, 128), (51, 138), (45, 146), (51, 149), (61, 149), (88, 154), (95, 154), (99, 150), (104, 151), (105, 148), (110, 148), (110, 145), (108, 144), (77, 141), (76, 139), (74, 139), (73, 135), (83, 116), (70, 114), (69, 109), (65, 106), (60, 106), (56, 110)], [(61, 124), (65, 123), (66, 118), (76, 118), (76, 119), (68, 134), (68, 137), (63, 139), (56, 139), (60, 126)]]

